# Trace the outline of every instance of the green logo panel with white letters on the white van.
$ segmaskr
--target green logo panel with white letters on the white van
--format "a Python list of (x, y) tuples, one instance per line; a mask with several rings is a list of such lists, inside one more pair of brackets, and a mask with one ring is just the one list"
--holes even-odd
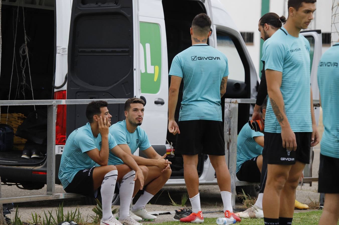
[(141, 93), (156, 94), (161, 81), (161, 36), (156, 23), (140, 22)]

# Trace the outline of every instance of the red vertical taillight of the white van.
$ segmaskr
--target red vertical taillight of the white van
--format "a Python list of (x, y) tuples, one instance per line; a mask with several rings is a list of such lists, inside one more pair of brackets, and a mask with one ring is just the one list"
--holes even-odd
[[(54, 99), (66, 99), (66, 91), (54, 92)], [(66, 144), (66, 105), (58, 105), (55, 123), (55, 144)]]

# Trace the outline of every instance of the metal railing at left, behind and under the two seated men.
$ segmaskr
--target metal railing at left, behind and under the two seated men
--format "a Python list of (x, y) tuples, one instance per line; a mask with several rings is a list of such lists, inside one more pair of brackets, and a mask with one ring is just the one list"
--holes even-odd
[[(82, 195), (74, 193), (55, 193), (55, 122), (57, 105), (88, 104), (99, 99), (67, 99), (67, 100), (16, 100), (0, 101), (0, 106), (7, 105), (47, 105), (47, 192), (46, 195), (34, 195), (12, 198), (0, 198), (0, 204), (14, 202), (40, 201), (50, 199), (74, 198)], [(100, 99), (108, 104), (125, 103), (127, 99)]]

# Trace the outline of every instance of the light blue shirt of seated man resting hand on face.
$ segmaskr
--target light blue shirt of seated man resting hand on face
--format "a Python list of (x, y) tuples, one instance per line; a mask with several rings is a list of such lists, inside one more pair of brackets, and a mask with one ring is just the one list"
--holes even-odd
[[(108, 134), (108, 148), (117, 146), (111, 134)], [(91, 125), (87, 123), (69, 134), (64, 151), (61, 156), (59, 168), (59, 180), (63, 188), (72, 182), (75, 174), (80, 170), (92, 168), (96, 165), (88, 155), (87, 151), (101, 149), (101, 134), (93, 136)]]

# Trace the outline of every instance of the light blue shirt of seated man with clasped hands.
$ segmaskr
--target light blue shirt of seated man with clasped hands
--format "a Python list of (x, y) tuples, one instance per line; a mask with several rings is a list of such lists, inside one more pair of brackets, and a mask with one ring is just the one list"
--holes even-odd
[[(112, 134), (118, 145), (127, 144), (131, 149), (132, 154), (138, 148), (139, 150), (143, 151), (151, 147), (151, 143), (148, 141), (146, 132), (141, 129), (140, 126), (138, 126), (133, 133), (130, 133), (126, 128), (125, 120), (119, 121), (118, 123), (109, 127), (109, 133)], [(123, 161), (110, 151), (108, 156), (108, 165), (120, 164), (124, 164)]]

